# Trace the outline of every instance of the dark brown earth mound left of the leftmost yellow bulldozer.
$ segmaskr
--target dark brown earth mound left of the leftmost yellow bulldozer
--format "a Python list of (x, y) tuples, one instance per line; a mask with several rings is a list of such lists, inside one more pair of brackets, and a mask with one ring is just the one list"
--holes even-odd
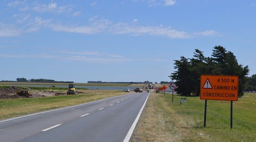
[(0, 99), (23, 98), (22, 96), (16, 95), (16, 91), (21, 91), (21, 89), (16, 86), (11, 86), (9, 88), (0, 88)]

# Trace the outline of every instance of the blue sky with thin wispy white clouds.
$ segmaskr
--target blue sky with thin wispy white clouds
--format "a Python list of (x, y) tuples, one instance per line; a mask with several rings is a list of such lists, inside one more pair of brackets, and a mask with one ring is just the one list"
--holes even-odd
[(2, 0), (0, 80), (159, 83), (218, 45), (251, 76), (255, 14), (255, 0)]

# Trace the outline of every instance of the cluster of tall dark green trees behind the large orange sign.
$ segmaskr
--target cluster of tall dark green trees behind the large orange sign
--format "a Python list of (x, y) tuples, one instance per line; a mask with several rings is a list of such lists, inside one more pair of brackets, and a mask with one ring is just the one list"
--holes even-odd
[(249, 74), (248, 66), (243, 67), (238, 64), (236, 56), (227, 51), (222, 46), (215, 46), (211, 57), (205, 57), (203, 51), (195, 49), (193, 58), (180, 57), (174, 60), (174, 71), (169, 76), (176, 80), (178, 94), (199, 95), (200, 94), (200, 75), (230, 75), (238, 76), (238, 95), (243, 95), (244, 91), (253, 89), (256, 86), (256, 75), (247, 77)]

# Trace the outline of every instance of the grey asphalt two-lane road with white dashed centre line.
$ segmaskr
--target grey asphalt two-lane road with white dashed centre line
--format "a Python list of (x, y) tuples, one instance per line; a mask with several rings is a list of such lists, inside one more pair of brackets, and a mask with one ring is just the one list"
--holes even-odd
[(128, 142), (149, 93), (130, 93), (0, 121), (1, 142)]

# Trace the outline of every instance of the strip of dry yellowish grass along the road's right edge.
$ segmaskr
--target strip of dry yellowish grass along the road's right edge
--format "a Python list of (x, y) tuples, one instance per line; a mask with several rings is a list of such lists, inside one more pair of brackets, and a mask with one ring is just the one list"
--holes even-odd
[[(132, 142), (180, 141), (181, 131), (175, 123), (181, 118), (169, 109), (168, 102), (159, 97), (159, 93), (151, 92), (146, 108), (133, 134)], [(162, 103), (161, 103), (162, 102)]]

